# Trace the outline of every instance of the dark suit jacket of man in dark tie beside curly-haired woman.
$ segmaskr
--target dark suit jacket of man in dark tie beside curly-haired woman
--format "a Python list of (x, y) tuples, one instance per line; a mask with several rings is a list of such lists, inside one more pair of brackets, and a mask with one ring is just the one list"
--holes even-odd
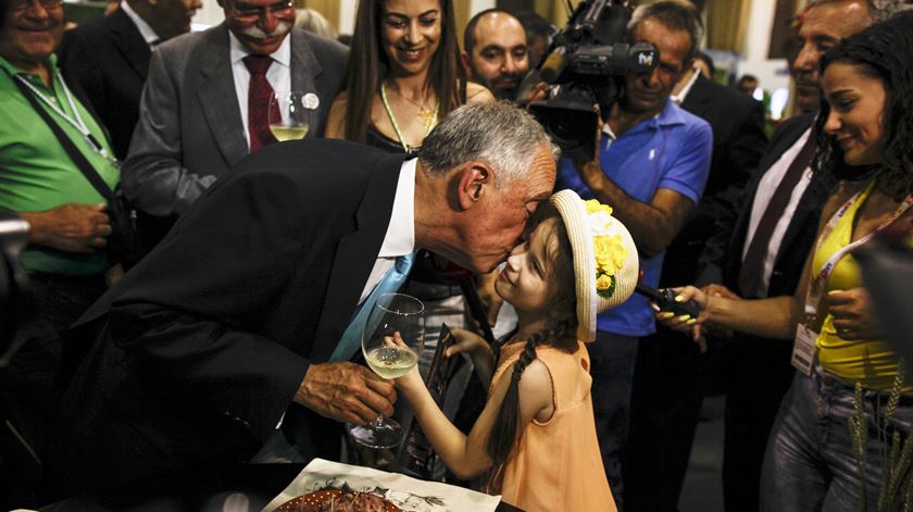
[[(764, 174), (788, 150), (799, 137), (812, 125), (814, 114), (804, 114), (786, 121), (774, 133), (771, 147), (752, 177), (746, 193), (739, 201), (741, 211), (735, 225), (717, 225), (714, 236), (708, 241), (701, 254), (701, 284), (723, 283), (729, 289), (738, 292), (739, 271), (741, 270), (741, 254), (746, 243), (748, 224), (751, 220), (751, 208), (758, 185)], [(827, 201), (827, 196), (834, 186), (833, 179), (815, 175), (799, 200), (799, 205), (790, 220), (789, 226), (777, 252), (776, 262), (767, 297), (792, 295), (799, 283), (805, 259), (812, 250), (817, 234), (821, 209)]]

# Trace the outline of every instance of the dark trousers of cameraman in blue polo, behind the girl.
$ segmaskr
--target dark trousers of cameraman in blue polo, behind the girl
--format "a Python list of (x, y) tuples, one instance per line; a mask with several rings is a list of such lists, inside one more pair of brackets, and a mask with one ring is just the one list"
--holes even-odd
[(638, 338), (598, 330), (587, 345), (592, 376), (592, 410), (602, 465), (615, 505), (622, 509), (622, 450), (630, 424), (630, 388), (637, 362)]

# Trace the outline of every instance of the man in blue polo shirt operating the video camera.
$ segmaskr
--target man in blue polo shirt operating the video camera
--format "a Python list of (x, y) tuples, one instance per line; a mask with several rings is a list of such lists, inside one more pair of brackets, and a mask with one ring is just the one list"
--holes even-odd
[[(691, 65), (700, 25), (673, 1), (645, 5), (628, 25), (631, 42), (652, 42), (660, 64), (628, 74), (625, 93), (602, 126), (592, 161), (563, 159), (556, 189), (572, 188), (614, 209), (637, 243), (643, 282), (656, 286), (666, 246), (693, 212), (710, 168), (712, 133), (703, 120), (670, 101), (673, 86)], [(605, 473), (622, 508), (620, 453), (627, 436), (637, 341), (655, 329), (647, 299), (635, 295), (599, 315), (588, 347), (592, 402)]]

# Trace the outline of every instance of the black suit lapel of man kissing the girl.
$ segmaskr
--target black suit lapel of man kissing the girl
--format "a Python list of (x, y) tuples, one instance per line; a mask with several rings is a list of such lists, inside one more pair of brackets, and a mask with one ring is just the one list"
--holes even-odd
[(311, 349), (312, 362), (322, 363), (329, 359), (355, 311), (387, 234), (401, 166), (402, 155), (389, 155), (372, 172), (364, 199), (355, 214), (355, 230), (343, 237), (336, 248), (315, 342)]

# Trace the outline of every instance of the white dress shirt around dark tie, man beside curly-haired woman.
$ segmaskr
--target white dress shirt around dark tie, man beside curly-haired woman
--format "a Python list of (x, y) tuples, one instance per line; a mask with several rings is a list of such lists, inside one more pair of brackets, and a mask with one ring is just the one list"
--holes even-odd
[[(742, 248), (742, 262), (745, 262), (745, 255), (748, 252), (748, 247), (751, 245), (751, 239), (754, 238), (754, 232), (758, 230), (758, 224), (761, 223), (761, 216), (764, 215), (764, 211), (767, 210), (767, 205), (771, 203), (771, 199), (774, 197), (777, 186), (779, 186), (783, 177), (786, 175), (786, 171), (792, 164), (792, 161), (796, 160), (796, 157), (799, 155), (799, 151), (802, 150), (802, 147), (805, 146), (805, 141), (809, 140), (809, 137), (811, 136), (812, 128), (809, 128), (801, 137), (799, 137), (796, 143), (784, 151), (779, 160), (771, 165), (771, 168), (764, 174), (764, 177), (761, 178), (761, 183), (758, 184), (758, 191), (754, 192), (754, 203), (751, 207), (751, 218), (748, 223), (748, 232), (746, 233), (745, 247)], [(776, 263), (777, 253), (779, 252), (780, 243), (783, 243), (783, 237), (786, 235), (786, 229), (792, 221), (792, 214), (796, 213), (796, 207), (799, 205), (799, 199), (802, 198), (802, 193), (804, 193), (805, 189), (809, 188), (809, 183), (811, 183), (811, 180), (812, 171), (810, 167), (806, 167), (802, 173), (802, 177), (799, 178), (799, 183), (796, 184), (796, 187), (792, 189), (792, 195), (789, 196), (789, 202), (786, 204), (786, 210), (784, 210), (783, 216), (780, 216), (777, 221), (774, 233), (771, 235), (771, 242), (767, 245), (767, 254), (764, 257), (764, 276), (761, 279), (761, 286), (759, 287), (759, 291), (762, 297), (767, 295), (767, 287), (771, 284), (771, 273), (774, 270), (774, 263)]]

